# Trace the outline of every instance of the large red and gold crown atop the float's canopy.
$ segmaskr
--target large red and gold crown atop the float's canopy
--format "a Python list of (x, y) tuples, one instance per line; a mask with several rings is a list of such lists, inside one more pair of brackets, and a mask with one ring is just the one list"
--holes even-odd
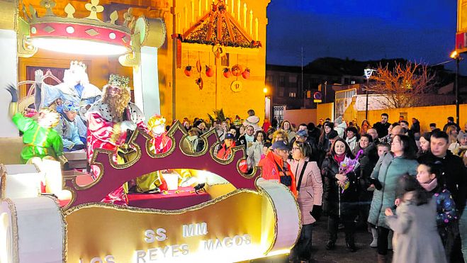
[(103, 6), (99, 5), (99, 0), (91, 0), (85, 8), (89, 11), (89, 16), (84, 18), (74, 17), (75, 9), (72, 4), (67, 4), (64, 12), (67, 17), (56, 16), (52, 8), (55, 7), (54, 0), (40, 1), (46, 11), (45, 15), (38, 17), (33, 6), (29, 6), (29, 13), (23, 8), (23, 13), (28, 21), (30, 38), (67, 38), (77, 40), (91, 40), (94, 42), (108, 43), (127, 47), (130, 50), (131, 30), (128, 23), (133, 19), (130, 10), (125, 13), (123, 25), (117, 25), (118, 12), (113, 11), (110, 21), (103, 22), (97, 14), (103, 11)]

